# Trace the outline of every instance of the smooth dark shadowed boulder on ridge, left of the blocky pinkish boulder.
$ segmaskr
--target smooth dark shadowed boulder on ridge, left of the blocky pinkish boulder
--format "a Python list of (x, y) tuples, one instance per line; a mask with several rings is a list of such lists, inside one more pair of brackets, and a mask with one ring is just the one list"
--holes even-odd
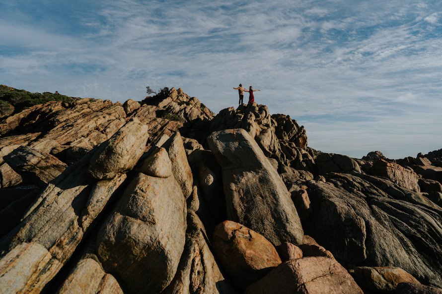
[(358, 163), (348, 156), (333, 153), (321, 153), (315, 159), (318, 173), (325, 175), (327, 173), (361, 173)]

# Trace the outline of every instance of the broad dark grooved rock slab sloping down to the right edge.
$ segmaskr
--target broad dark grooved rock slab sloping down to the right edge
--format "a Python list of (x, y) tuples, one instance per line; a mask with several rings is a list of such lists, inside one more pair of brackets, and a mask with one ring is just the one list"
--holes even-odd
[(420, 281), (442, 285), (439, 206), (385, 178), (327, 177), (326, 183), (308, 182), (313, 210), (303, 227), (308, 235), (345, 265), (400, 267)]

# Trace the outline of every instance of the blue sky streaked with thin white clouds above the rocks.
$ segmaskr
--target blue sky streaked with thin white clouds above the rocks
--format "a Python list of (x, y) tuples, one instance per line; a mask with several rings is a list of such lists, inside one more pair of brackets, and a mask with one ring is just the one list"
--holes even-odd
[(181, 87), (214, 112), (239, 83), (309, 146), (442, 148), (440, 0), (0, 0), (0, 83), (124, 102)]

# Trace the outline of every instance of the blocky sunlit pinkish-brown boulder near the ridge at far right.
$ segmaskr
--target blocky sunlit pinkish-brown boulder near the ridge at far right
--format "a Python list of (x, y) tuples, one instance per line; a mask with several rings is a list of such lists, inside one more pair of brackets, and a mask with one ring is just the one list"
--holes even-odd
[(373, 163), (370, 169), (373, 176), (384, 176), (401, 187), (419, 192), (419, 176), (410, 169), (404, 168), (396, 163), (379, 159)]

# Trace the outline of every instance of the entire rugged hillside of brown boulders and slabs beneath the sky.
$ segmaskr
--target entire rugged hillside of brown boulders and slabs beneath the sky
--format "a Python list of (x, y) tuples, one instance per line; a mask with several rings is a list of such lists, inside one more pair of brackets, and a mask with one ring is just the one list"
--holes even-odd
[(180, 88), (5, 89), (0, 294), (442, 293), (442, 149), (322, 153), (290, 116)]

